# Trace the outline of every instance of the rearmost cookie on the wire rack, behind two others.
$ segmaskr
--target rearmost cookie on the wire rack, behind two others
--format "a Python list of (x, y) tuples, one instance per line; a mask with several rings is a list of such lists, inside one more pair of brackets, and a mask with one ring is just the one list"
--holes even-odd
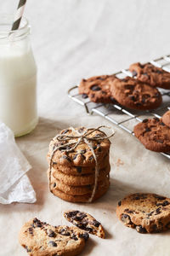
[(141, 63), (134, 63), (129, 67), (139, 81), (150, 84), (154, 87), (161, 87), (170, 89), (170, 73), (162, 70), (160, 67), (155, 67), (150, 63), (142, 65)]

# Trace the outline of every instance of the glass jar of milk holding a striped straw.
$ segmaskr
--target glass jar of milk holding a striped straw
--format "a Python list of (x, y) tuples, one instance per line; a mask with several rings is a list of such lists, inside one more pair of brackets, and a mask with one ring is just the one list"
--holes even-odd
[(0, 120), (19, 137), (37, 125), (37, 67), (28, 21), (10, 32), (12, 23), (12, 15), (0, 15)]

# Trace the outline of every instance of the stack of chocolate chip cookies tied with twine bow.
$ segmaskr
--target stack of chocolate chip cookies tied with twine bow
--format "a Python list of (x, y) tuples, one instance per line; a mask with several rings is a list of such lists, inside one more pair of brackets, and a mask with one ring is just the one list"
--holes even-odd
[[(82, 134), (86, 134), (84, 139), (80, 139)], [(60, 131), (52, 139), (48, 151), (48, 180), (54, 195), (65, 201), (88, 202), (105, 194), (111, 170), (111, 143), (105, 137), (99, 129), (80, 127)]]

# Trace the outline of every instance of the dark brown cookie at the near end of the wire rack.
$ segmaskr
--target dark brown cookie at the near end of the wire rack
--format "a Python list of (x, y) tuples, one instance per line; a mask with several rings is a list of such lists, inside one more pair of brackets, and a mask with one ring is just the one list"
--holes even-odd
[(170, 128), (162, 119), (144, 119), (134, 126), (134, 135), (144, 147), (156, 152), (170, 152)]

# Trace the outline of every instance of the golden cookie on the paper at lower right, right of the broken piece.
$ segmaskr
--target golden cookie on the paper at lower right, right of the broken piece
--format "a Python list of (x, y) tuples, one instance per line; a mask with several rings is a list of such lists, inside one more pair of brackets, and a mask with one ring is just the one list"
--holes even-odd
[(136, 193), (118, 202), (116, 215), (127, 227), (139, 233), (170, 229), (170, 199), (156, 194)]

